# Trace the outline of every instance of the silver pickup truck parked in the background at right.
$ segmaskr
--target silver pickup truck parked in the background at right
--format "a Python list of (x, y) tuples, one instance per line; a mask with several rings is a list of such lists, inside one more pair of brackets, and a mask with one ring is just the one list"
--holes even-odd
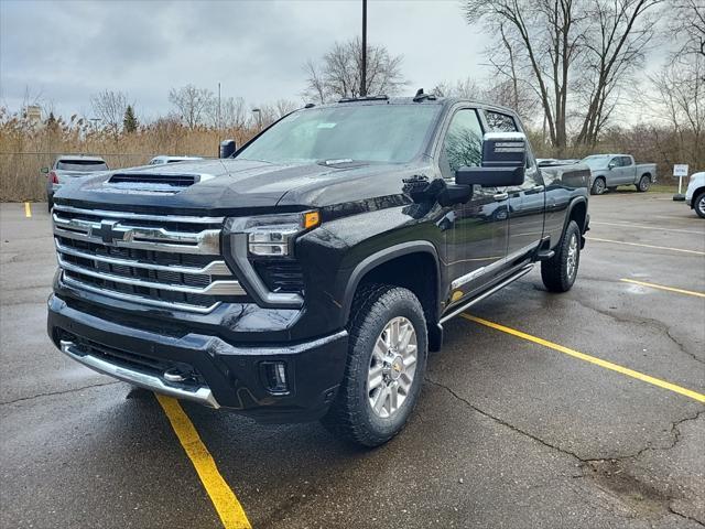
[(634, 163), (629, 154), (593, 154), (582, 163), (593, 172), (590, 193), (601, 195), (605, 191), (615, 191), (619, 185), (634, 185), (637, 191), (649, 191), (657, 181), (655, 163)]

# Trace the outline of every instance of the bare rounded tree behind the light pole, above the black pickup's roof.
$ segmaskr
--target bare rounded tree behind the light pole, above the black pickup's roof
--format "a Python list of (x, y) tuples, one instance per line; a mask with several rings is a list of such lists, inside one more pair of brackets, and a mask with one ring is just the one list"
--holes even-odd
[[(401, 55), (392, 56), (384, 46), (367, 46), (366, 94), (398, 94), (406, 84)], [(319, 64), (304, 64), (304, 96), (324, 102), (329, 99), (359, 97), (362, 77), (362, 43), (360, 39), (336, 42)]]

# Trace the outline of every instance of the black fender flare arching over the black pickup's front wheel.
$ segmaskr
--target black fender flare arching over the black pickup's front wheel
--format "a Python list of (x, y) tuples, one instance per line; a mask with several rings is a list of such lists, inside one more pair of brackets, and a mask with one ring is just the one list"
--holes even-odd
[[(427, 253), (433, 257), (433, 262), (436, 269), (436, 306), (433, 307), (435, 313), (434, 317), (437, 319), (438, 303), (441, 300), (441, 268), (438, 266), (438, 250), (427, 240), (411, 240), (408, 242), (401, 242), (399, 245), (390, 246), (383, 250), (379, 250), (370, 256), (367, 256), (352, 269), (348, 276), (345, 293), (343, 295), (343, 325), (346, 325), (350, 317), (350, 309), (352, 306), (352, 298), (362, 278), (375, 268), (383, 264), (384, 262), (397, 259), (398, 257), (408, 256), (410, 253)], [(429, 322), (432, 323), (432, 322)]]

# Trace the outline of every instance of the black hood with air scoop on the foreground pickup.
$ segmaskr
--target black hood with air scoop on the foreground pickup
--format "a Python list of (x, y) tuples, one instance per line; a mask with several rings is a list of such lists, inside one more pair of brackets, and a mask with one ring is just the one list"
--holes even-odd
[[(397, 164), (325, 166), (204, 160), (76, 179), (56, 193), (55, 202), (130, 212), (158, 208), (182, 215), (247, 215), (273, 207), (297, 210), (399, 194), (409, 171), (412, 166)], [(176, 182), (178, 185), (173, 185)]]

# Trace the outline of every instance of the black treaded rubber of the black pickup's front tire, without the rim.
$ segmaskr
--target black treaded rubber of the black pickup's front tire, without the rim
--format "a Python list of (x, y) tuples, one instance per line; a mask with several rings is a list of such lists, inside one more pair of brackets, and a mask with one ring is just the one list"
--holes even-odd
[[(416, 370), (410, 391), (388, 418), (378, 417), (369, 402), (367, 378), (372, 349), (392, 319), (403, 316), (416, 333)], [(355, 295), (347, 326), (349, 333), (345, 375), (323, 425), (336, 436), (364, 446), (379, 446), (397, 435), (419, 400), (429, 350), (423, 307), (409, 290), (387, 284), (367, 284)]]

